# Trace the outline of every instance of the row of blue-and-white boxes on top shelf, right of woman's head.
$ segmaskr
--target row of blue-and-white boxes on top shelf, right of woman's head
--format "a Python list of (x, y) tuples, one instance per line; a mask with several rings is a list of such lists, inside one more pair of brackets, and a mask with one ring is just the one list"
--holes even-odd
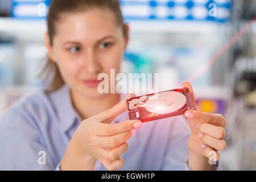
[(230, 20), (231, 0), (120, 0), (125, 20)]

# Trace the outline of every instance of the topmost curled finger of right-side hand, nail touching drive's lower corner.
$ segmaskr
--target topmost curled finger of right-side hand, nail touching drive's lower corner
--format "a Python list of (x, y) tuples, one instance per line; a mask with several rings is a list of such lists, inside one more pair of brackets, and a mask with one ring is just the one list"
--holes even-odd
[(188, 119), (188, 122), (193, 122), (191, 123), (193, 127), (195, 127), (199, 122), (210, 123), (223, 128), (225, 128), (226, 125), (226, 119), (221, 114), (204, 113), (198, 110), (187, 110), (184, 115)]

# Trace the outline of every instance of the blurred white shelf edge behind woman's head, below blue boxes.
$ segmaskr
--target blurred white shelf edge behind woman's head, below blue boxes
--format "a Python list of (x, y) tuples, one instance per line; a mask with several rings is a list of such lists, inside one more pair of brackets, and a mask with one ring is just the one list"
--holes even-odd
[[(228, 24), (213, 22), (179, 22), (179, 21), (130, 21), (131, 33), (213, 33), (226, 31)], [(19, 39), (42, 40), (47, 31), (46, 20), (23, 20), (13, 18), (0, 18), (0, 32), (13, 35)]]

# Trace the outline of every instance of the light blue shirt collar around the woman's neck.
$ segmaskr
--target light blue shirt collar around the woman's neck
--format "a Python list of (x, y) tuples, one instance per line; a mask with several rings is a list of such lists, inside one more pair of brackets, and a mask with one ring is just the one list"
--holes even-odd
[[(121, 93), (119, 94), (119, 101), (125, 99), (129, 94)], [(64, 131), (68, 131), (76, 121), (81, 122), (79, 114), (73, 107), (70, 88), (67, 84), (61, 86), (60, 89), (52, 92), (50, 98), (55, 105), (55, 109), (60, 118), (61, 127)], [(124, 111), (113, 119), (111, 123), (117, 123), (126, 121), (129, 119), (128, 111)]]

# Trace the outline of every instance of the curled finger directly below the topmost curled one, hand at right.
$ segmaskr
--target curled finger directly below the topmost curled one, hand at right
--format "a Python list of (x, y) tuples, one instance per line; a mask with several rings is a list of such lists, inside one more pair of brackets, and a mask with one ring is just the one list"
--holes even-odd
[(209, 123), (199, 123), (198, 129), (201, 133), (205, 133), (217, 139), (224, 139), (226, 131), (223, 127), (215, 126)]

